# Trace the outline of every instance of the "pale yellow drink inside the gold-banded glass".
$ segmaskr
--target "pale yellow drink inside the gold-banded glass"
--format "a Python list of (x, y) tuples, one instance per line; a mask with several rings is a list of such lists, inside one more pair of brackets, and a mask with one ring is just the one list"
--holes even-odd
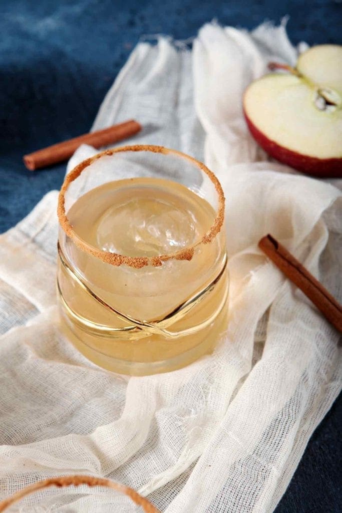
[[(155, 257), (201, 240), (215, 211), (184, 185), (142, 177), (91, 189), (75, 201), (67, 215), (75, 233), (89, 246), (129, 257)], [(96, 301), (58, 261), (64, 327), (74, 345), (100, 366), (129, 374), (182, 367), (210, 352), (226, 326), (223, 229), (210, 244), (199, 245), (191, 261), (168, 260), (157, 267), (113, 266), (68, 240), (62, 249), (67, 266), (76, 269), (98, 298), (145, 324), (143, 329), (128, 329), (132, 328), (129, 320)], [(153, 328), (156, 321), (163, 321), (220, 273), (212, 290), (189, 311), (173, 313), (162, 322), (162, 330)]]

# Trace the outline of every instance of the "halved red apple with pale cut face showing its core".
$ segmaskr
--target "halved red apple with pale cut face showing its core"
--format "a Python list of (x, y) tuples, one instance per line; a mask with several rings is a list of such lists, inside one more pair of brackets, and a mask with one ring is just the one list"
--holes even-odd
[(342, 46), (319, 45), (296, 68), (270, 64), (244, 95), (247, 125), (264, 150), (320, 177), (342, 176)]

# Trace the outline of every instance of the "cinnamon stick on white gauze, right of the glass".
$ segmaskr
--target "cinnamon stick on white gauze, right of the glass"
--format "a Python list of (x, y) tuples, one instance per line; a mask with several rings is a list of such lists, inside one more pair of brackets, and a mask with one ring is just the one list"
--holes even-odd
[(268, 234), (259, 241), (259, 248), (267, 254), (274, 264), (284, 272), (305, 295), (313, 302), (326, 319), (342, 332), (342, 305), (319, 283), (316, 278), (298, 262), (281, 244)]

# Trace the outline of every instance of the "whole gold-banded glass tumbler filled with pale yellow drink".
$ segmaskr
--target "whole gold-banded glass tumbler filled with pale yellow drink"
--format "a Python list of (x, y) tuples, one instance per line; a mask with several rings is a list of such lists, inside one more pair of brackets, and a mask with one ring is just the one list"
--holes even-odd
[(62, 329), (86, 358), (142, 376), (212, 351), (227, 325), (225, 198), (216, 176), (162, 146), (103, 151), (58, 198)]

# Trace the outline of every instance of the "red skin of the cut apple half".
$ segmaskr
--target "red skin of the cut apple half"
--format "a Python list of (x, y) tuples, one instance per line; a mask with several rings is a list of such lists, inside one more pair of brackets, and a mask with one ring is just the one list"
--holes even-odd
[(263, 132), (260, 132), (260, 130), (251, 122), (245, 110), (244, 115), (248, 128), (255, 141), (274, 159), (279, 162), (283, 162), (283, 164), (287, 164), (298, 171), (312, 176), (317, 176), (319, 178), (342, 177), (342, 157), (339, 159), (317, 159), (316, 157), (310, 157), (308, 155), (288, 150), (287, 148), (284, 148), (284, 146), (279, 146), (276, 142), (268, 139)]

